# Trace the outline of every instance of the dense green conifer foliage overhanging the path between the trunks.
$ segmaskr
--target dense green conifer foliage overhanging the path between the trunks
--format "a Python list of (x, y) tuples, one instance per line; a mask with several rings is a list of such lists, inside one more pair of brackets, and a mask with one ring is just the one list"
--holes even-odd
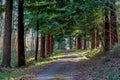
[(25, 15), (25, 19), (27, 26), (33, 29), (36, 28), (36, 20), (39, 20), (40, 33), (76, 36), (76, 30), (91, 31), (101, 26), (103, 3), (103, 0), (26, 0), (25, 11), (29, 14)]

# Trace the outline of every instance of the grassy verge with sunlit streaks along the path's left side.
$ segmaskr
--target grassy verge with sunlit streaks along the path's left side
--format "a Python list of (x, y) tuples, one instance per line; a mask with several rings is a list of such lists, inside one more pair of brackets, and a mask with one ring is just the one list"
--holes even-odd
[[(30, 55), (28, 55), (30, 54)], [(57, 58), (63, 57), (64, 54), (61, 51), (55, 51), (54, 54), (51, 57), (48, 57), (46, 59), (40, 59), (38, 62), (34, 61), (34, 54), (33, 53), (27, 53), (26, 58), (26, 66), (22, 68), (15, 67), (17, 65), (16, 57), (12, 57), (12, 69), (4, 69), (4, 72), (0, 72), (0, 80), (7, 80), (8, 75), (10, 75), (12, 80), (15, 77), (23, 78), (29, 76), (28, 72), (25, 70), (29, 70), (30, 68), (35, 68), (39, 66), (45, 66), (48, 64), (51, 64), (53, 62), (57, 61)], [(0, 54), (1, 57), (1, 54)], [(3, 69), (2, 69), (3, 70)]]

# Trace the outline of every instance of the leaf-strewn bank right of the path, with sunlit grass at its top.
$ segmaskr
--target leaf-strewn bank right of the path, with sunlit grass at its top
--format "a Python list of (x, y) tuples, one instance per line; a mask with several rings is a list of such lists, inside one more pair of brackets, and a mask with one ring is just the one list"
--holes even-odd
[(88, 62), (85, 64), (88, 71), (86, 71), (86, 74), (90, 73), (87, 76), (93, 78), (93, 80), (120, 80), (120, 43), (104, 54), (102, 48), (77, 50), (76, 53), (87, 57)]

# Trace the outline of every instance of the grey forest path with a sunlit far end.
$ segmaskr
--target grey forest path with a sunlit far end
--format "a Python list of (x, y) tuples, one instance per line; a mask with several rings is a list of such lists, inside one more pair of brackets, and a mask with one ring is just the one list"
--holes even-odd
[(40, 73), (35, 80), (73, 80), (71, 75), (76, 70), (77, 62), (81, 59), (81, 56), (74, 51), (63, 52), (65, 57)]

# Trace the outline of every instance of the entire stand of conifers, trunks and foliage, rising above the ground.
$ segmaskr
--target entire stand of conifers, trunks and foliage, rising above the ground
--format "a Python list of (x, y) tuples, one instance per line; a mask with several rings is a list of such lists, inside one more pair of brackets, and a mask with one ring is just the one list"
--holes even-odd
[(45, 58), (53, 47), (109, 51), (120, 38), (119, 9), (115, 0), (0, 0), (2, 65), (10, 56), (24, 65), (28, 51)]

